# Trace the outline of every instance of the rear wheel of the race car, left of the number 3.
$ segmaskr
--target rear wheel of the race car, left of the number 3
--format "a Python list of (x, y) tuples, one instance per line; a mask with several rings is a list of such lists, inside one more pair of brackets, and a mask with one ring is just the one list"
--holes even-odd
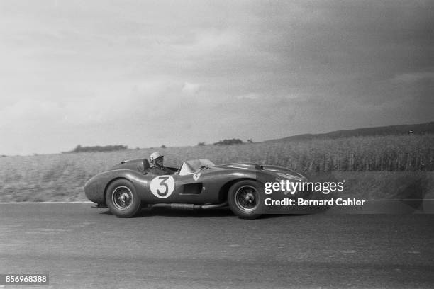
[(133, 217), (141, 208), (133, 183), (126, 179), (113, 181), (106, 191), (106, 204), (116, 217)]

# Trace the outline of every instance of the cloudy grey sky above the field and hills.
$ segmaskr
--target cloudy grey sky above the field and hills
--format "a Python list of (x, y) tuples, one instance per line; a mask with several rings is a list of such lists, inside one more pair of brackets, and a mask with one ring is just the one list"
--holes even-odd
[(434, 1), (0, 1), (0, 154), (434, 120)]

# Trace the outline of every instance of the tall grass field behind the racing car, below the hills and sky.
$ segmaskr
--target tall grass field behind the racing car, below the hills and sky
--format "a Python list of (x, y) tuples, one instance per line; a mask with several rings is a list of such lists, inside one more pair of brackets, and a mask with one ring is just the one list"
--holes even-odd
[(187, 159), (211, 159), (215, 164), (286, 166), (312, 178), (347, 178), (353, 187), (349, 194), (360, 198), (395, 198), (401, 188), (415, 182), (429, 195), (433, 144), (434, 135), (390, 135), (0, 157), (0, 201), (86, 200), (83, 186), (91, 176), (123, 159), (148, 158), (155, 151), (165, 154), (167, 166), (179, 166)]

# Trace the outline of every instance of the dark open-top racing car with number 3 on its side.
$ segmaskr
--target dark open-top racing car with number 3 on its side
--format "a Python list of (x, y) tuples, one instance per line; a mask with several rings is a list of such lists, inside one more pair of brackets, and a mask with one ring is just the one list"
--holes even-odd
[(282, 166), (253, 163), (213, 164), (192, 159), (156, 175), (148, 159), (126, 160), (87, 181), (84, 192), (117, 217), (133, 217), (143, 207), (211, 209), (229, 206), (240, 218), (264, 213), (264, 184), (306, 177)]

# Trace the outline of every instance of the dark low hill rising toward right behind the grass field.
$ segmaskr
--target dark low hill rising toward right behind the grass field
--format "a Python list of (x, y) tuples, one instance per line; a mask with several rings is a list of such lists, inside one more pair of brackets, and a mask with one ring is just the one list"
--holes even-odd
[(292, 140), (314, 140), (321, 138), (338, 138), (338, 137), (365, 137), (373, 135), (424, 135), (434, 133), (434, 122), (419, 123), (416, 125), (389, 125), (374, 128), (357, 128), (355, 130), (336, 130), (335, 132), (326, 132), (318, 134), (293, 135), (276, 140), (267, 140), (266, 142), (288, 142)]

